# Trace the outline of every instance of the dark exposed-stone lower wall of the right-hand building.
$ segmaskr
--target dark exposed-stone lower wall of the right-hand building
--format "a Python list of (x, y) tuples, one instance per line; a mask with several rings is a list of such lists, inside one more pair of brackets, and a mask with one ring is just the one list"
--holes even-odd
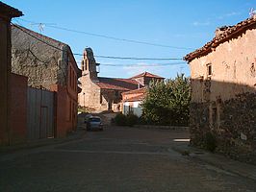
[[(217, 151), (236, 159), (250, 161), (256, 156), (256, 94), (243, 93), (219, 102), (219, 122), (213, 121), (213, 103), (192, 103), (191, 143), (204, 147), (205, 134), (217, 137)], [(212, 118), (212, 120), (211, 120)]]

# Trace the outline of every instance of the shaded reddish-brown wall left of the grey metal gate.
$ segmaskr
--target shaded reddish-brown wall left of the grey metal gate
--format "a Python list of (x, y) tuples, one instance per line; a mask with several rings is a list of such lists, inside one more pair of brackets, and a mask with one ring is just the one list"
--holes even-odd
[(11, 75), (11, 144), (23, 143), (27, 138), (27, 84), (28, 78)]

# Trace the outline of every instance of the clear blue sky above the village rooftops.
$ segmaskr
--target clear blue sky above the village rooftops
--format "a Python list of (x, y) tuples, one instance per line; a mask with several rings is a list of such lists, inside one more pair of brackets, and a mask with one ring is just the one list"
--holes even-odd
[[(90, 47), (95, 56), (140, 59), (182, 59), (210, 41), (218, 27), (235, 25), (256, 9), (255, 0), (2, 1), (23, 12), (13, 23), (62, 41), (75, 54)], [(82, 57), (75, 59), (80, 67)], [(166, 79), (190, 76), (184, 60), (96, 60), (100, 77), (129, 78), (144, 71)]]

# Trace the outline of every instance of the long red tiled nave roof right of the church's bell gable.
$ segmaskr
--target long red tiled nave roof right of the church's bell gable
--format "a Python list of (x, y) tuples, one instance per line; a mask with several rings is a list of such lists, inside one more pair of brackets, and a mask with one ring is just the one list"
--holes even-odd
[(115, 89), (115, 90), (133, 90), (138, 87), (138, 82), (130, 79), (119, 78), (98, 78), (99, 82), (94, 82), (100, 88), (103, 89)]

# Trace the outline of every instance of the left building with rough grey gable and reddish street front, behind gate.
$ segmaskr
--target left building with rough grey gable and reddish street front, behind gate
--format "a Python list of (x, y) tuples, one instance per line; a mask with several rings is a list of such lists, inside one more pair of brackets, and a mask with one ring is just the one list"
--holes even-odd
[(12, 72), (28, 85), (56, 93), (57, 136), (76, 129), (77, 79), (81, 76), (67, 44), (24, 27), (12, 26)]

